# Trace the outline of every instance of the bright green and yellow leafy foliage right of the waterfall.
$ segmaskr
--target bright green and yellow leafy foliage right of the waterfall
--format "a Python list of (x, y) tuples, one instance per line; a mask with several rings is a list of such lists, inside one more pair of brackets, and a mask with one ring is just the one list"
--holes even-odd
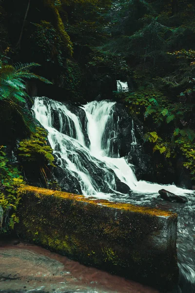
[[(167, 159), (175, 158), (178, 152), (185, 155), (184, 167), (190, 169), (192, 179), (195, 180), (195, 132), (191, 128), (192, 122), (191, 125), (186, 122), (192, 115), (194, 104), (183, 105), (180, 101), (173, 103), (159, 91), (150, 88), (125, 93), (123, 98), (133, 114), (144, 118), (145, 126), (150, 129), (145, 134), (145, 140), (153, 144), (153, 151), (159, 151)], [(166, 125), (170, 126), (165, 128)]]

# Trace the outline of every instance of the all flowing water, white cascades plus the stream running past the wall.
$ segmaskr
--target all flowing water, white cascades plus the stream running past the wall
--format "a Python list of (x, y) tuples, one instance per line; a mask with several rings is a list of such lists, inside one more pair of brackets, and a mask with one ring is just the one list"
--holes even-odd
[[(119, 81), (118, 81), (119, 82)], [(48, 130), (48, 140), (54, 149), (59, 167), (67, 170), (85, 196), (123, 201), (137, 205), (156, 206), (176, 211), (178, 217), (178, 264), (180, 285), (176, 292), (195, 292), (195, 197), (192, 190), (175, 185), (137, 181), (134, 168), (125, 158), (114, 153), (118, 138), (118, 122), (114, 116), (115, 102), (91, 102), (81, 106), (85, 118), (76, 115), (69, 105), (36, 98), (33, 106), (36, 118)], [(84, 113), (83, 112), (83, 113)], [(58, 121), (58, 123), (57, 123)], [(137, 147), (132, 121), (132, 148)], [(122, 182), (131, 192), (118, 190)], [(159, 198), (161, 188), (182, 195), (186, 204), (166, 203)], [(78, 190), (75, 188), (76, 190)], [(194, 244), (194, 245), (193, 245)]]

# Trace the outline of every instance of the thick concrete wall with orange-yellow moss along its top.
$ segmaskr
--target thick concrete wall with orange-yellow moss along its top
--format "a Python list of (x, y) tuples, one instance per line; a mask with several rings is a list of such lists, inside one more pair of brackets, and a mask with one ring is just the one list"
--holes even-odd
[(176, 284), (175, 213), (30, 186), (18, 192), (24, 239), (157, 288)]

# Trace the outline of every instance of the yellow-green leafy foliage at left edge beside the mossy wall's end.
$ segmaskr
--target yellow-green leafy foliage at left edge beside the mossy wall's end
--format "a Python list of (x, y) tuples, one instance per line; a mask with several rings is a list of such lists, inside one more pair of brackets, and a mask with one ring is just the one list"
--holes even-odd
[(0, 233), (13, 230), (14, 224), (19, 222), (17, 188), (24, 184), (18, 168), (9, 164), (4, 149), (5, 146), (0, 146)]

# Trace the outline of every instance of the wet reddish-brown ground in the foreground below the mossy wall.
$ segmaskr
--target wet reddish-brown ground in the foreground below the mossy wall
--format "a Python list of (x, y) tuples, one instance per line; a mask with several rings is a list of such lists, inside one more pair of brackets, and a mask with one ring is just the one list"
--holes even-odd
[(0, 242), (0, 293), (158, 293), (18, 240)]

